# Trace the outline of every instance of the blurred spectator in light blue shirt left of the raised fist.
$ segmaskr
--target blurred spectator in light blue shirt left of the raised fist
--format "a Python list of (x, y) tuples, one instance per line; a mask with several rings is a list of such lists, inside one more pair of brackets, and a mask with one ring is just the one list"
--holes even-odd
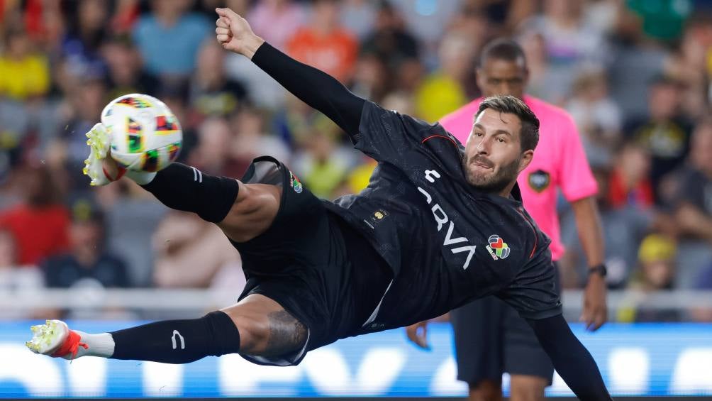
[(213, 26), (187, 13), (192, 0), (152, 0), (152, 13), (134, 26), (134, 41), (148, 73), (161, 80), (185, 80), (193, 71), (200, 44)]

